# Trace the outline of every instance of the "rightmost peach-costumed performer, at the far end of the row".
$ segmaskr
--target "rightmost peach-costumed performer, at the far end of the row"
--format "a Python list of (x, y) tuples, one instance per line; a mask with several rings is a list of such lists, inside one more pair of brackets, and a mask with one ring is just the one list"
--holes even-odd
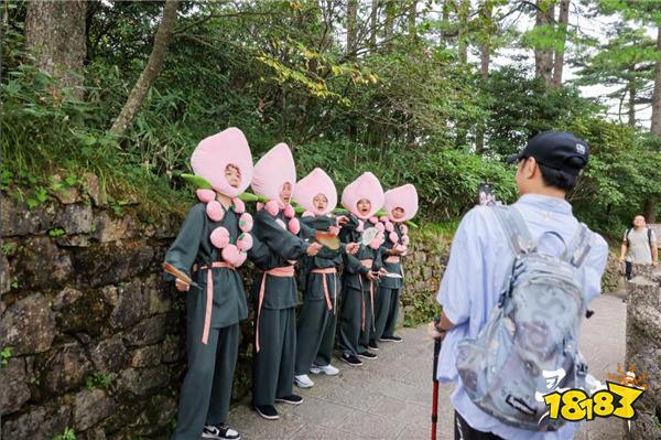
[(377, 341), (401, 342), (394, 335), (394, 326), (399, 313), (399, 302), (404, 272), (401, 257), (409, 245), (408, 227), (403, 222), (411, 219), (418, 212), (418, 192), (415, 186), (407, 184), (386, 192), (383, 208), (388, 213), (381, 217), (387, 233), (386, 243), (381, 246), (383, 268), (387, 273), (380, 277), (377, 301), (375, 304), (376, 325), (370, 339), (370, 348), (378, 348)]

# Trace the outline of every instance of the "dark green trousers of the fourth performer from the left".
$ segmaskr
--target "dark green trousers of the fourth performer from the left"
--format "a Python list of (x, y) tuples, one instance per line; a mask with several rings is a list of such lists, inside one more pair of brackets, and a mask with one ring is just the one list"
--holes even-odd
[(339, 318), (339, 348), (343, 353), (357, 355), (367, 351), (372, 331), (371, 310), (369, 281), (365, 282), (362, 291), (351, 287), (345, 288)]

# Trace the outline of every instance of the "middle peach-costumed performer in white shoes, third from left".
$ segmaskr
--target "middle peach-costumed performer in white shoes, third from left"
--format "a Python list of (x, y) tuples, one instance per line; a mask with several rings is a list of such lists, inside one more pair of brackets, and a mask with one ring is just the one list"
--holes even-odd
[[(346, 216), (329, 215), (337, 204), (337, 191), (322, 169), (314, 169), (296, 183), (294, 200), (306, 210), (301, 221), (316, 230), (337, 235), (339, 227), (348, 222)], [(330, 365), (337, 323), (338, 267), (342, 265), (342, 251), (356, 251), (358, 244), (346, 245), (346, 248), (343, 244), (334, 258), (321, 255), (303, 258), (301, 289), (304, 301), (296, 328), (294, 368), (294, 382), (301, 388), (314, 386), (307, 373), (329, 376), (339, 373)]]

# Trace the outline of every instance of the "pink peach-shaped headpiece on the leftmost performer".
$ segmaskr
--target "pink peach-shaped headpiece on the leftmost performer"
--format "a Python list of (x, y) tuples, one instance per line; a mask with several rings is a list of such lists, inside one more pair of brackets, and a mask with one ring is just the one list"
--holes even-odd
[[(227, 165), (236, 165), (241, 179), (238, 187), (225, 179)], [(220, 194), (236, 197), (252, 180), (252, 154), (243, 132), (230, 127), (217, 135), (205, 138), (197, 144), (191, 157), (191, 167), (196, 175), (205, 178)]]

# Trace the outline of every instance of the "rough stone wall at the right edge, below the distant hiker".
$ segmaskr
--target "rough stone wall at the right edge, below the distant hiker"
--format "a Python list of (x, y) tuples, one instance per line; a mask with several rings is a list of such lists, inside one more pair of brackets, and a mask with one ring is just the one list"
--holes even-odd
[(637, 403), (633, 440), (661, 439), (661, 270), (636, 265), (627, 302), (627, 359), (636, 374), (647, 375), (648, 389)]

